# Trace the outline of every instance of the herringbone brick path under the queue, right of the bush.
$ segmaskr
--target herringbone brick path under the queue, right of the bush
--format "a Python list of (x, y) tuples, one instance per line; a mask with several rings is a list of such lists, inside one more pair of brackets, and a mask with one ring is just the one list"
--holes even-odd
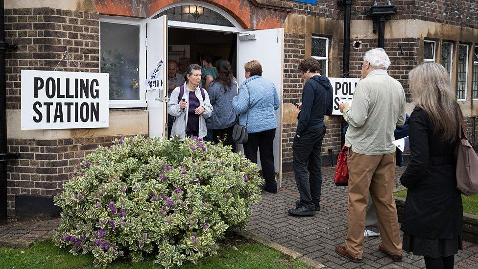
[[(397, 169), (395, 187), (400, 187)], [(292, 217), (287, 210), (295, 206), (299, 194), (293, 173), (283, 174), (282, 188), (277, 194), (263, 193), (263, 200), (252, 207), (247, 231), (291, 248), (329, 268), (425, 268), (421, 256), (404, 255), (402, 263), (394, 263), (378, 251), (380, 238), (364, 240), (363, 263), (348, 262), (335, 253), (335, 245), (344, 244), (347, 233), (347, 187), (335, 187), (334, 168), (322, 171), (321, 211), (313, 217)], [(464, 242), (464, 249), (455, 256), (455, 269), (478, 268), (478, 245)]]

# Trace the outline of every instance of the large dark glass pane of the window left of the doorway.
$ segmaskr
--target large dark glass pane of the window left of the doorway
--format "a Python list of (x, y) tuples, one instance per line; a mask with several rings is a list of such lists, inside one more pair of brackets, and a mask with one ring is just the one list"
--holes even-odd
[(101, 22), (100, 28), (100, 72), (110, 74), (110, 100), (139, 100), (140, 26)]

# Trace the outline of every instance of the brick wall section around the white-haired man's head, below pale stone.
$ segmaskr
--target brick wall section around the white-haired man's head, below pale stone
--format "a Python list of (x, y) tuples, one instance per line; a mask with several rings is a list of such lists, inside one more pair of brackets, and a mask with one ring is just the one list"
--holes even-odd
[[(360, 63), (363, 62), (363, 55), (367, 50), (377, 47), (377, 39), (361, 39), (360, 49), (354, 49), (352, 40), (350, 47), (350, 77), (360, 77)], [(405, 90), (406, 101), (411, 101), (411, 95), (408, 90), (408, 72), (419, 64), (419, 44), (420, 40), (416, 38), (394, 38), (385, 39), (385, 51), (390, 57), (390, 67), (388, 73), (400, 83)]]

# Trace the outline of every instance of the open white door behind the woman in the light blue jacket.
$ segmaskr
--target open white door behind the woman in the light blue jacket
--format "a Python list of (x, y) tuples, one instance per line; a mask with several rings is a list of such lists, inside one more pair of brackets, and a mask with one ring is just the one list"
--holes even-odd
[[(276, 110), (278, 128), (274, 139), (274, 161), (277, 186), (282, 185), (282, 95), (284, 70), (284, 28), (240, 32), (238, 34), (238, 82), (245, 80), (244, 64), (258, 60), (263, 68), (263, 77), (276, 86), (281, 106)], [(260, 158), (258, 158), (260, 166)]]

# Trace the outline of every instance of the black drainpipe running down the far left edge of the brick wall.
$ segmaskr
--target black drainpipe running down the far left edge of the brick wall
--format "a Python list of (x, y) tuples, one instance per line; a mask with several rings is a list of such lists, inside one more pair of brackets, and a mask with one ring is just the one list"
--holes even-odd
[(5, 43), (3, 0), (0, 0), (0, 225), (7, 222), (7, 100), (5, 87), (5, 51), (17, 45)]

